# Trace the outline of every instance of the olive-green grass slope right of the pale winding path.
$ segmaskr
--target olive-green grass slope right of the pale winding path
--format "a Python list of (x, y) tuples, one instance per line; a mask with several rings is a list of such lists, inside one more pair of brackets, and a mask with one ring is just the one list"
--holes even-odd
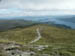
[(50, 43), (75, 43), (75, 30), (52, 27), (49, 25), (39, 26), (41, 29), (42, 39), (39, 42), (42, 44)]

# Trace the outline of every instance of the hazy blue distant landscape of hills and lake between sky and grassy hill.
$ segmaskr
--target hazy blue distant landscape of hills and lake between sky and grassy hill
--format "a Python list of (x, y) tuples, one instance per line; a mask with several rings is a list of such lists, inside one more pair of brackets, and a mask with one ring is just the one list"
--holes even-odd
[(48, 24), (57, 27), (75, 29), (75, 16), (26, 16), (0, 19), (0, 31), (35, 24)]

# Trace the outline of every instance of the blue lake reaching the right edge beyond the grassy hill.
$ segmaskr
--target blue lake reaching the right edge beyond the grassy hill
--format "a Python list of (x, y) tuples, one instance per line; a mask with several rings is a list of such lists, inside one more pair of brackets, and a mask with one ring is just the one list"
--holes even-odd
[[(67, 19), (68, 20), (68, 19)], [(51, 22), (55, 22), (55, 24), (62, 24), (75, 29), (75, 23), (72, 21), (66, 21), (65, 19), (51, 19)]]

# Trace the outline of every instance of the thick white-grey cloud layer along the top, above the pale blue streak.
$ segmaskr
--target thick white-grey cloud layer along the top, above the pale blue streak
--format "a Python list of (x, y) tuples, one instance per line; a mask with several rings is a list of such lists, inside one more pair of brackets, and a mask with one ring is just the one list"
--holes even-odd
[(75, 9), (75, 0), (2, 0), (0, 8), (23, 8), (33, 10)]

